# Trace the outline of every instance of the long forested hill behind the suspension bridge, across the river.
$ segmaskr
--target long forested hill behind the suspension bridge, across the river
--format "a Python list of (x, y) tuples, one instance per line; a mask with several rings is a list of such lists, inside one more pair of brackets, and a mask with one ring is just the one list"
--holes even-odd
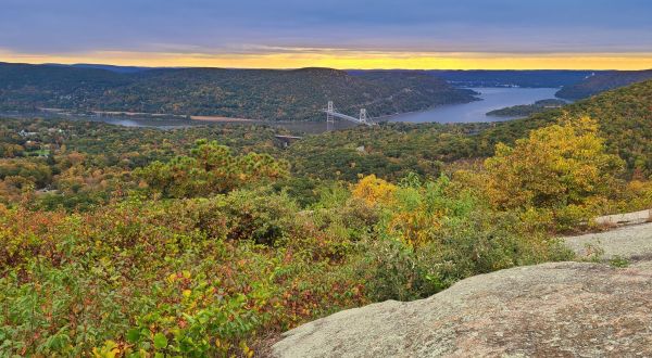
[(328, 100), (338, 110), (373, 116), (469, 102), (473, 92), (419, 73), (329, 68), (294, 71), (160, 68), (116, 73), (101, 68), (0, 63), (0, 110), (58, 107), (268, 120), (321, 118)]

